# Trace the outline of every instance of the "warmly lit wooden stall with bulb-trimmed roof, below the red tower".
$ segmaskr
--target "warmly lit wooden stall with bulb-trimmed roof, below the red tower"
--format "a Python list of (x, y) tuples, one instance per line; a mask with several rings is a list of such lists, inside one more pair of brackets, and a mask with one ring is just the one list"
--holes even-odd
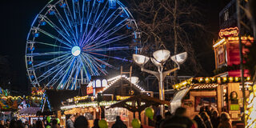
[[(192, 118), (202, 106), (210, 106), (218, 112), (228, 112), (233, 120), (241, 120), (243, 98), (240, 80), (238, 77), (190, 78), (174, 85), (178, 91), (170, 102), (171, 111), (183, 106)], [(246, 81), (250, 81), (250, 77)], [(251, 86), (246, 85), (246, 97), (249, 90)]]

